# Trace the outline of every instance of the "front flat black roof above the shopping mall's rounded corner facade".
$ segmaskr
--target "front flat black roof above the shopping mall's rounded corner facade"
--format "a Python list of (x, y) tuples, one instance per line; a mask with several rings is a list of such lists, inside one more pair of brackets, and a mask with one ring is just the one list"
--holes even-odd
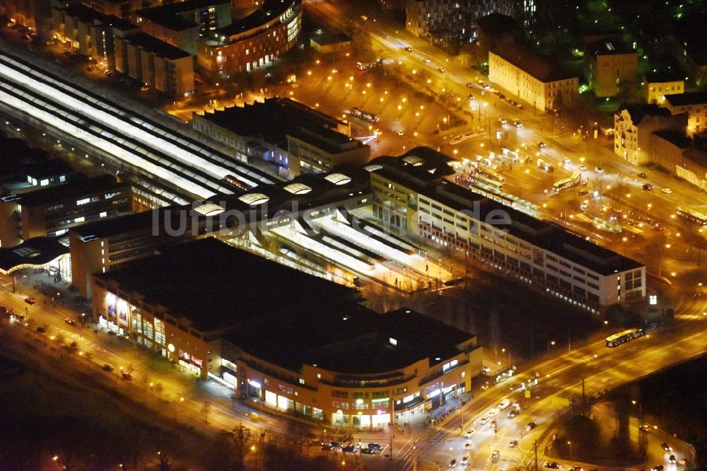
[(339, 373), (373, 375), (422, 359), (436, 364), (458, 354), (456, 346), (473, 337), (407, 308), (378, 314), (351, 305), (252, 322), (225, 339), (291, 371), (311, 364)]

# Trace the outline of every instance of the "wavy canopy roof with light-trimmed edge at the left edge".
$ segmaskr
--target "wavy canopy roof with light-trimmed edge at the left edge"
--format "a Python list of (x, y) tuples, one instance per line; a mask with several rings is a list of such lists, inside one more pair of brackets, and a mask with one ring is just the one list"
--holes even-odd
[(42, 268), (68, 253), (69, 248), (55, 238), (34, 237), (14, 247), (0, 248), (0, 273), (10, 274), (23, 268)]

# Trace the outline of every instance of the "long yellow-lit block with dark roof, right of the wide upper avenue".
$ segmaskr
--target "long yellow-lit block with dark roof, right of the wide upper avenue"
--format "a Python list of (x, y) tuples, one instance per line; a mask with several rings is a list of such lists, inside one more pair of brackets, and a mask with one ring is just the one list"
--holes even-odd
[(577, 76), (515, 44), (489, 52), (489, 80), (543, 112), (578, 98)]

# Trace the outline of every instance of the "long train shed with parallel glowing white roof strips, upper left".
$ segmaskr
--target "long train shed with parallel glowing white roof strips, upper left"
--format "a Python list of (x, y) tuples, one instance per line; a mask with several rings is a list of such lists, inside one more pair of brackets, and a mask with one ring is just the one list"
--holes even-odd
[(74, 136), (185, 197), (273, 182), (225, 153), (10, 54), (0, 54), (0, 98), (5, 107)]

